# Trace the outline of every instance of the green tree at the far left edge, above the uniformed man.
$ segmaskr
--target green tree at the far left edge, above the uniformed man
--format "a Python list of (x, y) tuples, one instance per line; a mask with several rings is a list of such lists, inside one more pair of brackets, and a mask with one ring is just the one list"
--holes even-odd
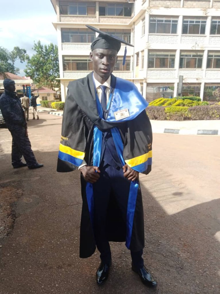
[(14, 47), (11, 52), (4, 47), (0, 47), (0, 77), (6, 78), (6, 72), (19, 74), (20, 69), (15, 67), (14, 63), (18, 59), (22, 63), (27, 57), (26, 50), (21, 49), (18, 46)]

